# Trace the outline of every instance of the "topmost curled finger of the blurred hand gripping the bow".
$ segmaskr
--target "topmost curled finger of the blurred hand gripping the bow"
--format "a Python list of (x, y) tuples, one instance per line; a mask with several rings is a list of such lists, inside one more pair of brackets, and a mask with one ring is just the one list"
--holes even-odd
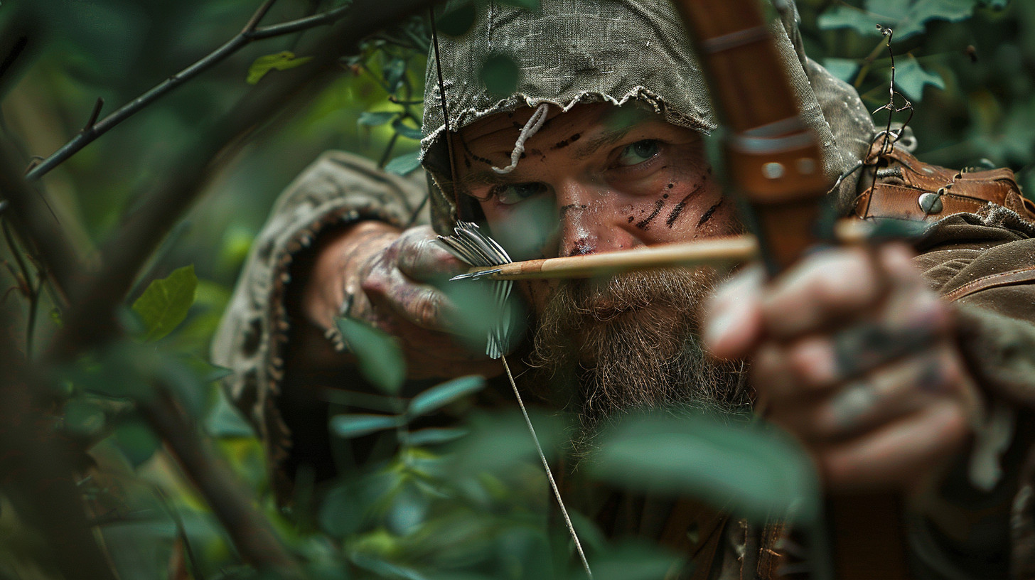
[(771, 336), (794, 338), (871, 308), (883, 292), (882, 274), (867, 249), (830, 250), (775, 280), (762, 314)]

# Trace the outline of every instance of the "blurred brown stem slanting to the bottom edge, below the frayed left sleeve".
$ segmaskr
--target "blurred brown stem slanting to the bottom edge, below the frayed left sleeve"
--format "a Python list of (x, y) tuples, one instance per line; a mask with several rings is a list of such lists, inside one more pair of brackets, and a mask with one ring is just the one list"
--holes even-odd
[(139, 402), (148, 425), (169, 445), (180, 467), (208, 501), (246, 561), (278, 577), (301, 578), (297, 562), (288, 554), (269, 521), (252, 506), (233, 472), (201, 438), (196, 426), (173, 401), (165, 385), (155, 396)]

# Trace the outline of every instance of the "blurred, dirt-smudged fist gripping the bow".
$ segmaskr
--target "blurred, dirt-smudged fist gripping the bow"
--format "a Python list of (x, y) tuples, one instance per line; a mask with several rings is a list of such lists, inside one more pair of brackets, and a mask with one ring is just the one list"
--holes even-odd
[(724, 284), (706, 312), (720, 358), (752, 358), (757, 408), (812, 454), (833, 491), (919, 491), (978, 412), (953, 311), (901, 244), (809, 257), (767, 284)]

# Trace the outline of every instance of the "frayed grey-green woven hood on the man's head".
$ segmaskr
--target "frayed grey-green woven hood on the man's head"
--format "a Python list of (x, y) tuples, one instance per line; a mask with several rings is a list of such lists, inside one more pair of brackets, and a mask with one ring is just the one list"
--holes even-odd
[[(773, 30), (802, 119), (817, 133), (825, 170), (835, 177), (861, 157), (873, 122), (851, 87), (801, 53), (794, 3), (774, 5), (780, 19)], [(676, 125), (703, 133), (717, 126), (704, 74), (668, 0), (542, 0), (538, 10), (497, 2), (476, 6), (474, 24), (465, 33), (439, 34), (441, 87), (434, 50), (428, 59), (421, 145), (437, 185), (432, 222), (440, 233), (455, 223), (442, 138), (443, 92), (452, 132), (543, 103), (565, 111), (581, 103), (633, 103)], [(481, 80), (485, 63), (501, 57), (518, 66), (516, 89), (509, 95), (494, 94)], [(825, 114), (834, 114), (836, 122), (828, 122)], [(851, 185), (854, 192), (854, 181)]]

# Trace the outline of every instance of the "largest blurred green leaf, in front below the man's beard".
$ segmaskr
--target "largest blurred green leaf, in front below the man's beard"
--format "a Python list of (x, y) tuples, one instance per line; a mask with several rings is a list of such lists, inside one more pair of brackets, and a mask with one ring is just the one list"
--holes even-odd
[(642, 415), (605, 432), (591, 473), (631, 489), (691, 495), (763, 522), (818, 522), (820, 487), (804, 451), (758, 422)]

